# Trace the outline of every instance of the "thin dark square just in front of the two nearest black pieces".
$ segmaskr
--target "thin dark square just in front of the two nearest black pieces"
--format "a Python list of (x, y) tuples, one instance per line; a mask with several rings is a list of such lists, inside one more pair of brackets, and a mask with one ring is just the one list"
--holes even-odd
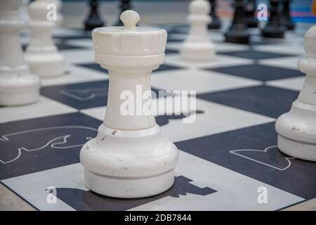
[(266, 58), (281, 58), (281, 57), (288, 57), (291, 56), (289, 54), (281, 54), (281, 53), (270, 53), (265, 51), (226, 51), (222, 52), (220, 54), (223, 54), (225, 56), (235, 56), (235, 57), (241, 57), (241, 58), (249, 58), (254, 60), (262, 60)]

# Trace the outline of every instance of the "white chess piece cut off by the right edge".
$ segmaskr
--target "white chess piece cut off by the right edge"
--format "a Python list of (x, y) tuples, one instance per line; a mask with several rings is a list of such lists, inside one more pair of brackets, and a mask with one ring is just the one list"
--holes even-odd
[(281, 115), (275, 124), (277, 146), (287, 155), (316, 161), (316, 25), (304, 35), (307, 56), (298, 61), (306, 79), (298, 99), (289, 113)]

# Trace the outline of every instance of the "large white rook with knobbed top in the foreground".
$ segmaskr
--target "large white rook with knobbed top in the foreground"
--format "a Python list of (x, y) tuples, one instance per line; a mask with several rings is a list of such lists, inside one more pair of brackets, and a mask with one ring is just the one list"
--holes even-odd
[[(164, 62), (167, 34), (162, 29), (136, 27), (139, 15), (135, 11), (124, 11), (121, 20), (124, 27), (100, 27), (92, 32), (96, 63), (109, 71), (109, 97), (105, 120), (96, 138), (81, 148), (80, 162), (92, 191), (141, 198), (169, 189), (178, 162), (178, 149), (164, 139), (154, 116), (147, 114), (151, 101), (147, 110), (137, 113), (148, 102), (142, 96), (150, 91), (152, 70)], [(136, 115), (125, 114), (126, 96), (131, 100), (128, 108), (135, 109)]]

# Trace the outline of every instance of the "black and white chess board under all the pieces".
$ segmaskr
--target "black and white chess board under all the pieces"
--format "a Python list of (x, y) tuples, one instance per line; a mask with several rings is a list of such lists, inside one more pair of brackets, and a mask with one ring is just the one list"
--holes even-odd
[(277, 40), (254, 29), (250, 45), (225, 43), (223, 32), (211, 31), (216, 60), (192, 64), (178, 55), (187, 26), (160, 27), (168, 31), (166, 60), (152, 72), (152, 89), (197, 91), (194, 123), (156, 117), (180, 150), (169, 191), (117, 199), (84, 185), (79, 151), (103, 121), (109, 82), (93, 61), (91, 35), (67, 29), (54, 32), (65, 76), (43, 79), (37, 103), (0, 108), (1, 184), (37, 210), (280, 210), (316, 198), (315, 162), (282, 154), (275, 132), (305, 79), (296, 66), (305, 30)]

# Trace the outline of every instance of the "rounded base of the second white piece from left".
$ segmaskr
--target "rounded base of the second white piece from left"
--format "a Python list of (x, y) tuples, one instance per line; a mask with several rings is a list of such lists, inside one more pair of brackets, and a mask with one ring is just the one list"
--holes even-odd
[(59, 53), (25, 53), (29, 68), (39, 77), (57, 77), (65, 73), (65, 58)]

